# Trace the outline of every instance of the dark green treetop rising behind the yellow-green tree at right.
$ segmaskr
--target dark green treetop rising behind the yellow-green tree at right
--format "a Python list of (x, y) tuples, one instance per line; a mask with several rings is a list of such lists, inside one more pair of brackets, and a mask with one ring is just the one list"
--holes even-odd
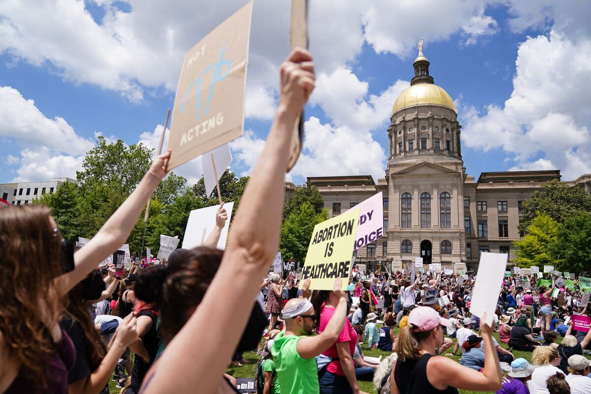
[(519, 230), (530, 226), (538, 213), (547, 214), (558, 223), (580, 211), (591, 211), (591, 196), (580, 187), (552, 180), (541, 185), (529, 200), (524, 201)]

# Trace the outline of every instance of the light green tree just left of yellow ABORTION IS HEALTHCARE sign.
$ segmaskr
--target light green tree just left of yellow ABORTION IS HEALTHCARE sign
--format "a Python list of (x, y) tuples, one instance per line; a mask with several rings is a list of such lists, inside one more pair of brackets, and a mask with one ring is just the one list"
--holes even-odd
[(316, 213), (310, 203), (294, 209), (281, 224), (279, 251), (284, 260), (304, 261), (314, 226), (329, 219), (329, 211)]

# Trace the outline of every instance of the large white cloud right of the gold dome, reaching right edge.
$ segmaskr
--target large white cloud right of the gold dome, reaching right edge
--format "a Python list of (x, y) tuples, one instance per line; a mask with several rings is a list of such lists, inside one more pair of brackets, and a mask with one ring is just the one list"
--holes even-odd
[(460, 110), (466, 146), (502, 148), (520, 169), (561, 170), (572, 180), (591, 172), (591, 38), (555, 31), (519, 46), (513, 92), (504, 106)]

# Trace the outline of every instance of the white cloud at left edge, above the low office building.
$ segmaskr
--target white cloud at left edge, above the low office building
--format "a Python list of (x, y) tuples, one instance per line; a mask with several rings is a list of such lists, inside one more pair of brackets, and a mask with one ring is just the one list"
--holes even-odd
[(65, 119), (48, 119), (33, 100), (9, 86), (0, 87), (0, 136), (15, 139), (21, 146), (45, 146), (72, 155), (83, 154), (93, 146), (77, 135)]

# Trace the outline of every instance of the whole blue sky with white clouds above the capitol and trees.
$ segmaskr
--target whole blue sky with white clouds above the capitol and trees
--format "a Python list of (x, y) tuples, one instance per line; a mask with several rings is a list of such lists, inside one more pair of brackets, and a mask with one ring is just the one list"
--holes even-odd
[[(155, 146), (184, 52), (245, 1), (160, 3), (0, 4), (0, 183), (74, 177), (98, 133)], [(255, 1), (245, 136), (231, 145), (238, 174), (249, 173), (271, 123), (288, 3)], [(317, 87), (294, 183), (383, 176), (388, 118), (421, 37), (431, 76), (456, 100), (470, 175), (591, 172), (589, 2), (360, 3), (311, 2)], [(199, 159), (175, 170), (190, 182), (200, 171)]]

